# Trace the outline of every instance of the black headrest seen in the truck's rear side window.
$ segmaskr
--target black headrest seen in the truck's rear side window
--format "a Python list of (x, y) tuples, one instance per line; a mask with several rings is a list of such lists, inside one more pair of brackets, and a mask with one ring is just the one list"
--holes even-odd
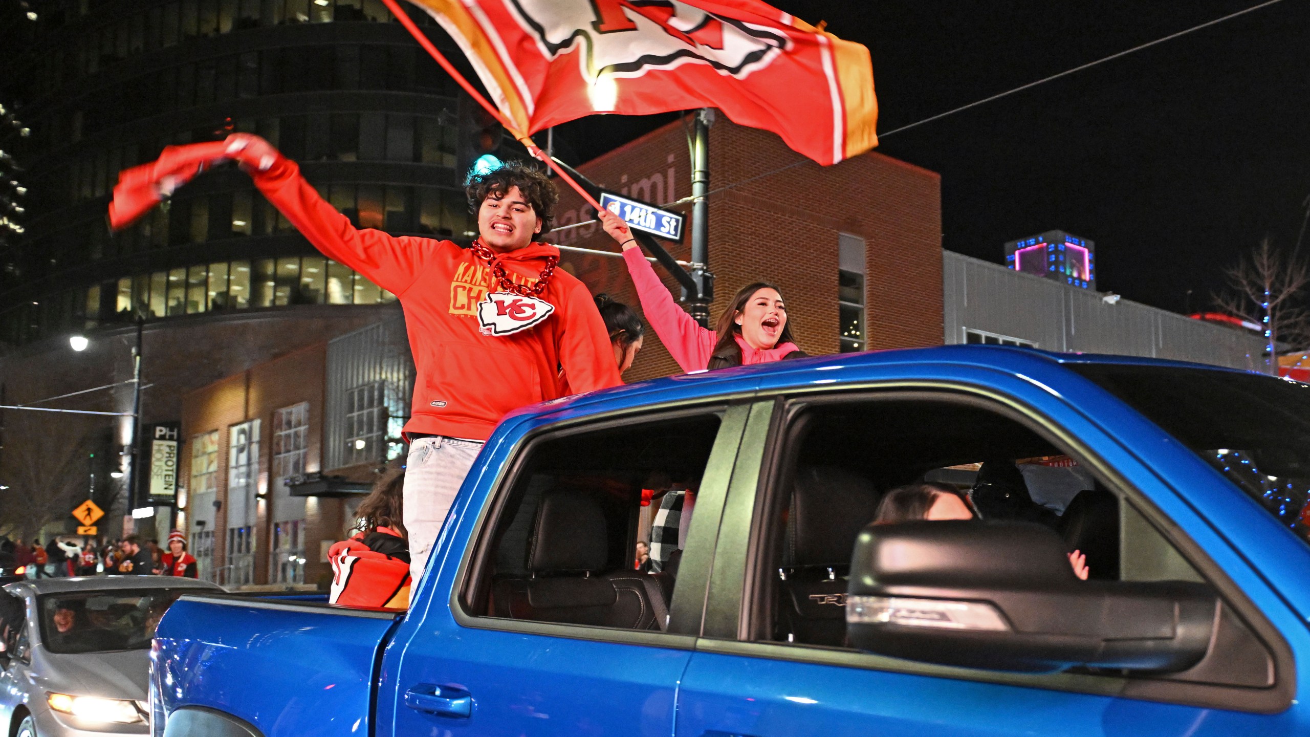
[(596, 572), (605, 568), (608, 553), (605, 513), (600, 505), (575, 493), (553, 492), (541, 498), (532, 526), (528, 570)]

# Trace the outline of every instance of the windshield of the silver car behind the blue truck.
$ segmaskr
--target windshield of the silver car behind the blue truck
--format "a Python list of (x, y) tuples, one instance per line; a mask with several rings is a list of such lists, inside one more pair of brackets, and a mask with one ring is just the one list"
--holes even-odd
[(52, 653), (148, 648), (178, 589), (46, 594), (38, 599), (41, 640)]

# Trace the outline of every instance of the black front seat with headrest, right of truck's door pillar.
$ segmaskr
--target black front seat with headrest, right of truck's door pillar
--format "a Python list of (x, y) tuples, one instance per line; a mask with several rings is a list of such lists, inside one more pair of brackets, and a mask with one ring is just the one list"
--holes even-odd
[(796, 469), (778, 582), (776, 639), (842, 645), (850, 555), (879, 500), (867, 479), (844, 468)]

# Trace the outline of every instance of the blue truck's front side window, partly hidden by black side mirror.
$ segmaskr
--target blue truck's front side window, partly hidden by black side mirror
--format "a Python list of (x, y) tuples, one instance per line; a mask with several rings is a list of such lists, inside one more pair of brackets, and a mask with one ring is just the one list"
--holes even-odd
[(1091, 578), (1200, 574), (1124, 502), (1044, 437), (1007, 416), (946, 399), (815, 404), (793, 425), (766, 496), (768, 580), (755, 639), (844, 648), (845, 591), (859, 531), (897, 487), (956, 492), (976, 518), (1049, 526)]

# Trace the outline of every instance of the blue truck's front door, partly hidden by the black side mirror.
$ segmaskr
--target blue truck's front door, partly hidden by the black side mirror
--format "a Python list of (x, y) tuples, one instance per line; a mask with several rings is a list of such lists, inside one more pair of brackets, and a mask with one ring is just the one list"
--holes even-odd
[[(1220, 569), (1199, 552), (1187, 535), (1212, 530), (1184, 505), (1170, 501), (1176, 517), (1161, 522), (1171, 492), (1150, 468), (1053, 392), (1023, 384), (1009, 383), (1031, 403), (1022, 409), (962, 387), (777, 397), (782, 421), (757, 452), (760, 476), (739, 466), (726, 501), (726, 517), (752, 523), (720, 531), (703, 637), (679, 690), (677, 737), (1303, 729), (1296, 664), (1279, 632), (1303, 640), (1305, 629), (1252, 570)], [(739, 459), (752, 452), (744, 442)], [(1213, 584), (1222, 619), (1205, 658), (1169, 675), (1032, 674), (853, 648), (845, 599), (857, 535), (891, 489), (925, 481), (956, 492), (973, 514), (1053, 527), (1086, 555), (1095, 580)], [(1248, 598), (1256, 594), (1264, 614)]]

